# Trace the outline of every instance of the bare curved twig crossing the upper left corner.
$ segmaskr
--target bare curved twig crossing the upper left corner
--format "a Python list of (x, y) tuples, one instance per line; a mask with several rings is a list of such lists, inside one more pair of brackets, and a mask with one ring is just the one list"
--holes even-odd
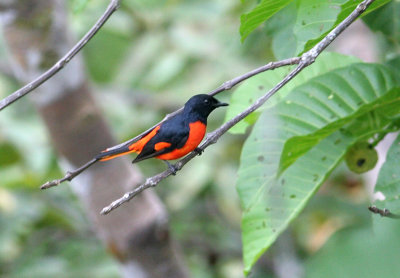
[(26, 84), (24, 87), (18, 89), (14, 93), (5, 97), (0, 101), (0, 111), (6, 108), (8, 105), (32, 92), (34, 89), (42, 85), (53, 75), (59, 72), (64, 66), (71, 61), (71, 59), (89, 42), (89, 40), (100, 30), (104, 23), (110, 18), (110, 16), (118, 9), (120, 0), (111, 0), (104, 14), (99, 20), (93, 25), (93, 27), (86, 33), (86, 35), (76, 44), (64, 57), (62, 57), (57, 63), (55, 63), (45, 73), (40, 75), (35, 80)]

